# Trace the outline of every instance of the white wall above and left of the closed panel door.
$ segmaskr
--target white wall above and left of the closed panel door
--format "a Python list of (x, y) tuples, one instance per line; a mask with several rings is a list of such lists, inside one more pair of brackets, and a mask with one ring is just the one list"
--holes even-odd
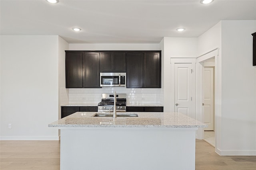
[[(193, 58), (197, 57), (197, 38), (164, 37), (164, 111), (173, 111), (174, 104), (171, 98), (174, 96), (171, 87), (171, 58)], [(161, 44), (163, 43), (161, 41)]]

